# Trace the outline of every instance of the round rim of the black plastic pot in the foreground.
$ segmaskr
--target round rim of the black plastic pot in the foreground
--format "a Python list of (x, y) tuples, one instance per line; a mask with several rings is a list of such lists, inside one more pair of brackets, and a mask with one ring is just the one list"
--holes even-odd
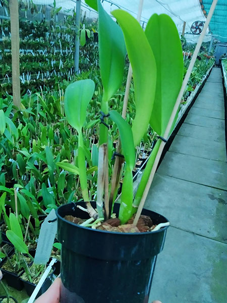
[[(75, 207), (76, 203), (70, 203), (70, 204), (74, 205), (74, 207)], [(89, 231), (92, 231), (92, 232), (100, 232), (100, 233), (104, 233), (104, 234), (118, 234), (118, 235), (122, 235), (122, 236), (128, 236), (128, 235), (138, 235), (138, 236), (141, 235), (142, 236), (142, 235), (145, 235), (145, 234), (151, 234), (151, 233), (155, 234), (155, 233), (163, 232), (169, 227), (169, 226), (165, 226), (165, 227), (162, 227), (161, 229), (156, 230), (156, 231), (146, 231), (146, 232), (117, 232), (117, 231), (106, 231), (106, 230), (100, 230), (100, 229), (93, 229), (93, 228), (90, 228), (90, 227), (85, 227), (85, 226), (81, 226), (79, 224), (70, 222), (70, 221), (66, 220), (65, 218), (63, 218), (59, 214), (59, 209), (64, 207), (64, 206), (67, 206), (67, 205), (69, 205), (69, 204), (64, 204), (64, 205), (61, 205), (60, 207), (58, 207), (58, 209), (56, 209), (56, 216), (60, 220), (63, 220), (65, 223), (70, 224), (72, 226), (76, 226), (78, 228), (81, 228), (82, 230), (84, 229), (84, 230), (89, 230)], [(153, 211), (150, 211), (150, 210), (147, 210), (147, 209), (143, 209), (143, 210), (146, 210), (146, 211), (152, 212), (154, 214), (157, 214), (157, 215), (163, 217), (166, 220), (166, 222), (169, 222), (164, 216), (162, 216), (162, 215), (160, 215), (156, 212), (153, 212)], [(151, 220), (152, 220), (152, 218), (151, 218)], [(165, 223), (165, 222), (163, 222), (163, 223)]]

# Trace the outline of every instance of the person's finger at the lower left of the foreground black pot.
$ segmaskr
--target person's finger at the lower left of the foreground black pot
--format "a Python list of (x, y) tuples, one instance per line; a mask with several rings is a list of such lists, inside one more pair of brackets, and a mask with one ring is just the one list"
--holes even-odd
[(61, 279), (56, 278), (53, 284), (37, 298), (35, 303), (60, 303)]

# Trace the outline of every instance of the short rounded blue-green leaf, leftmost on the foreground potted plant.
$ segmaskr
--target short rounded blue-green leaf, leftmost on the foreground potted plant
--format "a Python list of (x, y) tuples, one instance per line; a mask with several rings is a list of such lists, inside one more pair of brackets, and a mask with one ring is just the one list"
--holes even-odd
[(90, 79), (71, 83), (65, 93), (65, 113), (71, 126), (78, 132), (86, 119), (87, 106), (94, 93), (94, 81)]

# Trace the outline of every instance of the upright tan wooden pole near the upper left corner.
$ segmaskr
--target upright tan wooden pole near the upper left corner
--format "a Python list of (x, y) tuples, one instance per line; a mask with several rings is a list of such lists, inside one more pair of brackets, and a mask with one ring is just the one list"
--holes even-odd
[(10, 27), (11, 27), (11, 48), (12, 48), (13, 103), (17, 108), (20, 108), (21, 87), (20, 87), (20, 38), (19, 38), (18, 0), (10, 0)]

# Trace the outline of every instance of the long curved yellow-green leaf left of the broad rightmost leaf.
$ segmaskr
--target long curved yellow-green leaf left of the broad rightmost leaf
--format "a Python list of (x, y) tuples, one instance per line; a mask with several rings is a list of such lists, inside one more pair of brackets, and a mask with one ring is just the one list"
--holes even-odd
[(116, 10), (133, 69), (136, 116), (132, 126), (134, 145), (138, 145), (149, 125), (156, 87), (156, 63), (150, 44), (139, 22), (129, 13)]

